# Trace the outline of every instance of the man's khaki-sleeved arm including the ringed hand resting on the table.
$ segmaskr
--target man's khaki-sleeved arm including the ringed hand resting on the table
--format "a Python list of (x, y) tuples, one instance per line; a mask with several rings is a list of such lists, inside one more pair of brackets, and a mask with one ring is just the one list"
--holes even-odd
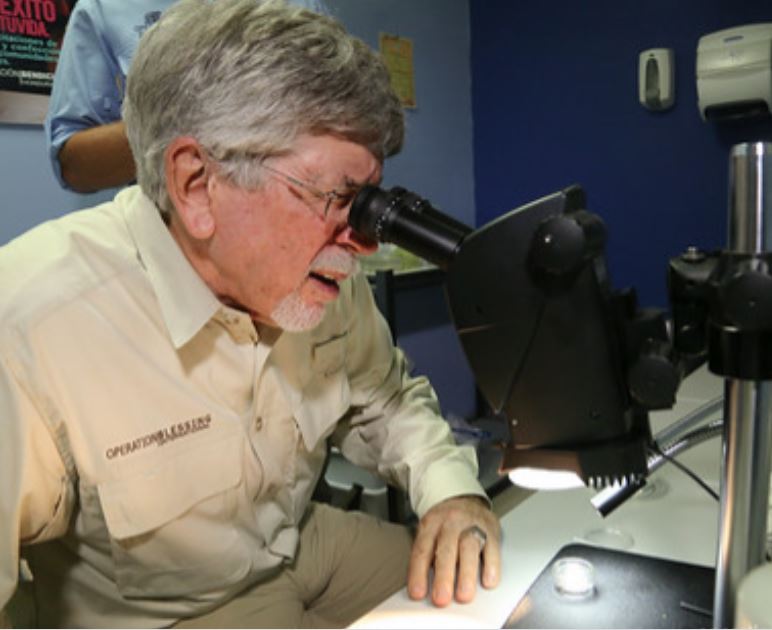
[(493, 588), (501, 572), (498, 519), (477, 478), (470, 446), (458, 446), (440, 416), (424, 377), (408, 374), (401, 350), (374, 305), (363, 276), (353, 281), (354, 314), (346, 361), (355, 410), (333, 438), (353, 463), (408, 491), (420, 517), (408, 574), (414, 599), (429, 594), (446, 606), (472, 600), (480, 562), (482, 584)]

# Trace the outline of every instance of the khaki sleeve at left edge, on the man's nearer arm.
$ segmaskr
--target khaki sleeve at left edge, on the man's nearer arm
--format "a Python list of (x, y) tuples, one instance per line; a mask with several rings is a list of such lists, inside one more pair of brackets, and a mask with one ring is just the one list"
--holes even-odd
[(7, 361), (0, 362), (0, 611), (18, 581), (19, 548), (62, 535), (73, 485), (48, 427)]

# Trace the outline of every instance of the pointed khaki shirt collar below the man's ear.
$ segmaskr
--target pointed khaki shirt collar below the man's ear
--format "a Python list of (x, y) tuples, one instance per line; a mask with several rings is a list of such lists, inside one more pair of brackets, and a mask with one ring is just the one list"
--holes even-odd
[(161, 219), (156, 205), (133, 186), (122, 191), (126, 222), (161, 307), (175, 348), (181, 348), (221, 308)]

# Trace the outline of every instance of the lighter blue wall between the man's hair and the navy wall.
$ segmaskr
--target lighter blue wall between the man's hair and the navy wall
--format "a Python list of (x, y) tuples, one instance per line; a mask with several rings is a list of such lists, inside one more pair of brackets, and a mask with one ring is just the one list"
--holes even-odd
[(378, 33), (413, 40), (415, 109), (405, 110), (402, 152), (384, 185), (399, 184), (474, 225), (468, 0), (325, 0), (372, 47)]

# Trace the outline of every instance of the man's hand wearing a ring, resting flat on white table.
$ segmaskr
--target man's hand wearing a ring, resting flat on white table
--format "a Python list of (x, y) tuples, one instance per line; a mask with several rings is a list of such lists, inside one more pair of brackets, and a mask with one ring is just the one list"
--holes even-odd
[[(483, 537), (484, 534), (484, 537)], [(418, 525), (410, 555), (407, 590), (412, 599), (428, 591), (434, 566), (432, 602), (447, 606), (472, 601), (482, 558), (482, 585), (494, 588), (501, 574), (499, 521), (479, 497), (454, 497), (429, 510)]]

